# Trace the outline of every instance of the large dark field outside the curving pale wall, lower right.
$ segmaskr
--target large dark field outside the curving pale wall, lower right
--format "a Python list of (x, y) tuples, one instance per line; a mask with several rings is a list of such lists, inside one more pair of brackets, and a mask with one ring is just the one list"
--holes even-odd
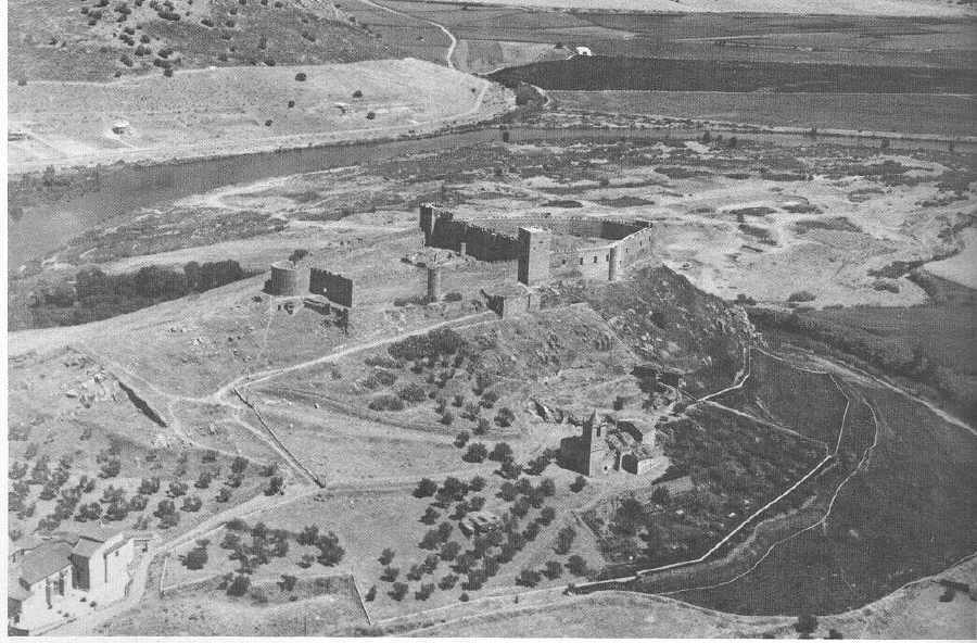
[[(842, 488), (825, 528), (786, 540), (739, 580), (675, 597), (738, 614), (833, 614), (974, 551), (977, 440), (898, 393), (862, 393), (876, 409), (878, 444)], [(862, 444), (870, 419), (853, 418)], [(709, 584), (727, 580), (722, 572), (705, 576)]]

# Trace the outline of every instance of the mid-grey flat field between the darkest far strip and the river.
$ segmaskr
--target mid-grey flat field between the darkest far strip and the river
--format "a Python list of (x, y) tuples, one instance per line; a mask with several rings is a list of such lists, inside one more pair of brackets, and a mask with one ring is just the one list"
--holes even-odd
[(974, 99), (931, 93), (554, 91), (562, 109), (773, 127), (969, 136)]

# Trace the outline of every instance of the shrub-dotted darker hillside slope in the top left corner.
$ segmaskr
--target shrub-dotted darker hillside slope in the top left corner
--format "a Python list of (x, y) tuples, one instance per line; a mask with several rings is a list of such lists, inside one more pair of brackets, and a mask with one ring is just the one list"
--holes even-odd
[(391, 58), (332, 3), (299, 0), (11, 0), (13, 80), (104, 80), (162, 68)]

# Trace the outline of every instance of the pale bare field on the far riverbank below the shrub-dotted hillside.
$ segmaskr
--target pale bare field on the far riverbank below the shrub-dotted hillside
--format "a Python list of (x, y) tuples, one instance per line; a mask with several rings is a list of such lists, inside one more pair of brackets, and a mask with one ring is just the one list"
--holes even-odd
[(11, 162), (135, 152), (154, 157), (181, 149), (206, 155), (279, 137), (422, 130), (481, 113), (486, 88), (482, 79), (417, 60), (31, 83), (10, 91), (13, 127), (30, 135), (11, 143)]

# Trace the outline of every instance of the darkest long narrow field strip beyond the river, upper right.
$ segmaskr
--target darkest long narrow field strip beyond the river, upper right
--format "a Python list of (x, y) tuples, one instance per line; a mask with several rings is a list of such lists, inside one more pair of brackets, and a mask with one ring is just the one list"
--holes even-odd
[(490, 78), (563, 90), (970, 93), (977, 87), (977, 73), (960, 70), (609, 56), (534, 63)]

